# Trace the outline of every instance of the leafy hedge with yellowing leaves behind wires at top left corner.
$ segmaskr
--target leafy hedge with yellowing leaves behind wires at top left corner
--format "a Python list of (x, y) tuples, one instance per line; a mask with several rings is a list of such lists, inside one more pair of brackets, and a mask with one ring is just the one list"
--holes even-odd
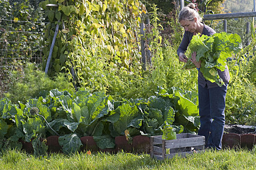
[[(41, 8), (31, 5), (30, 0), (17, 0), (11, 4), (9, 0), (1, 0), (0, 13), (2, 14), (1, 18), (5, 19), (0, 20), (0, 39), (3, 41), (0, 43), (0, 48), (10, 50), (0, 51), (0, 56), (17, 58), (11, 62), (6, 62), (6, 66), (12, 62), (12, 64), (17, 65), (17, 61), (24, 64), (31, 57), (38, 57), (43, 39), (42, 34), (38, 32), (42, 32), (44, 28), (44, 23), (37, 23), (44, 21)], [(19, 21), (29, 22), (24, 24), (24, 22)]]

